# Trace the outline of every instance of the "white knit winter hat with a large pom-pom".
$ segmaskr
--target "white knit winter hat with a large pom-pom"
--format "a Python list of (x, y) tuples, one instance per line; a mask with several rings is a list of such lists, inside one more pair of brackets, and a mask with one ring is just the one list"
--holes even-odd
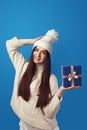
[(56, 42), (57, 40), (58, 40), (58, 32), (56, 32), (54, 29), (48, 30), (43, 38), (35, 42), (33, 48), (36, 46), (40, 46), (45, 48), (51, 54), (52, 43)]

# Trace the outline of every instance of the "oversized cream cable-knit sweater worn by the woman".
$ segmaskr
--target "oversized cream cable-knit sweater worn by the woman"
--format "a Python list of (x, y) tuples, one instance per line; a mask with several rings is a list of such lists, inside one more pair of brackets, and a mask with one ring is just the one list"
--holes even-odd
[(36, 107), (38, 100), (37, 90), (40, 85), (40, 78), (43, 70), (43, 66), (37, 66), (36, 78), (30, 85), (31, 98), (29, 101), (25, 101), (21, 96), (17, 96), (19, 81), (24, 74), (29, 62), (27, 62), (21, 53), (18, 52), (18, 48), (23, 46), (20, 39), (16, 37), (6, 41), (6, 47), (9, 57), (15, 68), (15, 80), (14, 88), (11, 98), (11, 107), (16, 115), (28, 125), (44, 130), (53, 130), (58, 124), (56, 121), (56, 113), (60, 107), (60, 100), (57, 97), (58, 81), (54, 74), (50, 75), (50, 89), (52, 93), (51, 102), (44, 107), (43, 111)]

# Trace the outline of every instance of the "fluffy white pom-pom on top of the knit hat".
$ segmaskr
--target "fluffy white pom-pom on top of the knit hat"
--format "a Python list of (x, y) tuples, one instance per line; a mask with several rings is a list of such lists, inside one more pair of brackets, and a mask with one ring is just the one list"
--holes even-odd
[(58, 40), (58, 32), (56, 32), (54, 29), (48, 30), (46, 36), (49, 36), (51, 38), (52, 43)]

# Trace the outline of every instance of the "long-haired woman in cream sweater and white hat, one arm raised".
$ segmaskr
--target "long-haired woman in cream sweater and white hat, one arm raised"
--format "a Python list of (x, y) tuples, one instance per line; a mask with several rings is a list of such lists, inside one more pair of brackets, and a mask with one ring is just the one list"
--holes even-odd
[[(57, 78), (50, 71), (52, 43), (58, 39), (53, 29), (35, 39), (7, 40), (6, 47), (15, 68), (11, 107), (20, 118), (20, 130), (59, 130), (56, 113), (62, 94), (75, 86), (58, 89)], [(34, 44), (30, 61), (26, 61), (18, 48)]]

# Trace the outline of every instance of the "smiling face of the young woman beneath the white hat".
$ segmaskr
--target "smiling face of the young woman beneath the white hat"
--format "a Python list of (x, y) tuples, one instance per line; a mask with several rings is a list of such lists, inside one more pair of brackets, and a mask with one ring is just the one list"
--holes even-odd
[(36, 64), (44, 63), (47, 55), (46, 49), (37, 46), (33, 52), (33, 61)]

